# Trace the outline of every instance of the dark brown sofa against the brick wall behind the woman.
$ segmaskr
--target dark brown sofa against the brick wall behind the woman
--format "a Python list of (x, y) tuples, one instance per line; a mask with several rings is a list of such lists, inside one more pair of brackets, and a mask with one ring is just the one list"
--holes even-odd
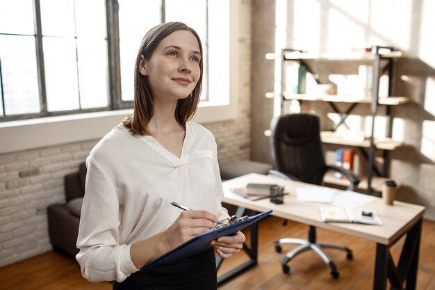
[(64, 177), (65, 204), (51, 204), (47, 208), (49, 223), (49, 238), (54, 250), (76, 255), (77, 235), (79, 234), (79, 221), (81, 204), (85, 195), (85, 163), (79, 165), (79, 172)]

